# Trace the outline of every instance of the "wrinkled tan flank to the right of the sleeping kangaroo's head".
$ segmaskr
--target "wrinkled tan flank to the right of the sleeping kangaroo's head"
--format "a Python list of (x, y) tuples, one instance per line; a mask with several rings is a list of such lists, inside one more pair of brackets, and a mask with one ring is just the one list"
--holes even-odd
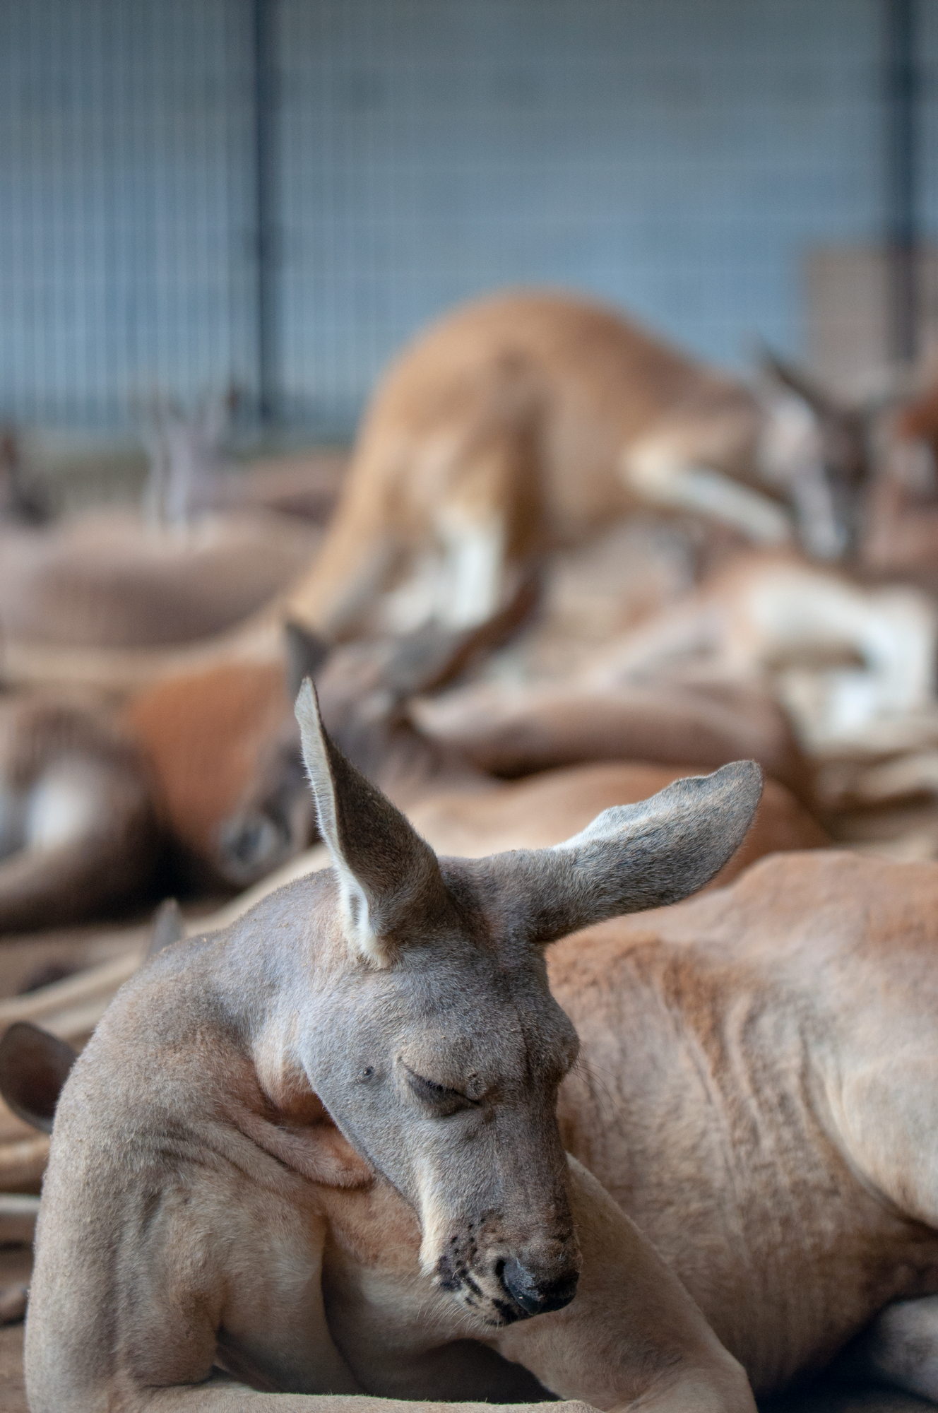
[[(935, 865), (777, 855), (550, 954), (583, 1044), (564, 1142), (757, 1392), (938, 1290), (937, 901)], [(897, 1332), (876, 1358), (934, 1400), (931, 1304), (915, 1351)]]

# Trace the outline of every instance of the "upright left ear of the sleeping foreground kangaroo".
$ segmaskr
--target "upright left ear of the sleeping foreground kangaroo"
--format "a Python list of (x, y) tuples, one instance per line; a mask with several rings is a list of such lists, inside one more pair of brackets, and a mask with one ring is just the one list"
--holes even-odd
[(390, 966), (401, 945), (429, 935), (449, 910), (437, 855), (329, 739), (309, 678), (295, 711), (346, 938), (366, 961)]

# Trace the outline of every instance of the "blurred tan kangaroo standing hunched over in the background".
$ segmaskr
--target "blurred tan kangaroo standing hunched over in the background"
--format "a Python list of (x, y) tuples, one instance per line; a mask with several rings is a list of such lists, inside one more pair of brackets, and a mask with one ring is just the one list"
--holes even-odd
[(865, 473), (862, 421), (819, 410), (802, 383), (760, 398), (613, 311), (500, 294), (446, 315), (386, 373), (288, 616), (350, 636), (403, 575), (384, 601), (397, 629), (476, 623), (533, 558), (643, 504), (777, 544), (792, 500), (809, 548), (838, 557)]

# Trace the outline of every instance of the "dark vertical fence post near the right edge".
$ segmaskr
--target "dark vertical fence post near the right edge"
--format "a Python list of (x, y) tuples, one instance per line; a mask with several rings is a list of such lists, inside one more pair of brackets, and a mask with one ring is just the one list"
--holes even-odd
[(884, 0), (886, 237), (890, 343), (894, 357), (918, 352), (918, 72), (915, 0)]

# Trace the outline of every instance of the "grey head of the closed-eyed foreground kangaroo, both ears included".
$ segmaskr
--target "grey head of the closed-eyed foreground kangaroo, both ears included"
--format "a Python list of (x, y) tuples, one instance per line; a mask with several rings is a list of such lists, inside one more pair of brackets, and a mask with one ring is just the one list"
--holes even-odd
[(572, 1300), (579, 1253), (555, 1119), (576, 1033), (544, 948), (675, 901), (737, 848), (753, 763), (605, 811), (554, 849), (438, 859), (297, 702), (336, 937), (297, 1030), (309, 1084), (418, 1214), (421, 1263), (487, 1324)]

